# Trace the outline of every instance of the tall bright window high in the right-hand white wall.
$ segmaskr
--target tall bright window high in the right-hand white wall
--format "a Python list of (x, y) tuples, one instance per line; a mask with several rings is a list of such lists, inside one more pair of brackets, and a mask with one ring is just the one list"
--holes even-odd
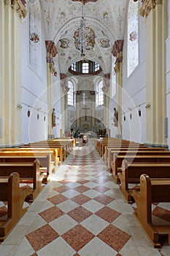
[(139, 64), (139, 2), (129, 1), (128, 5), (128, 76)]

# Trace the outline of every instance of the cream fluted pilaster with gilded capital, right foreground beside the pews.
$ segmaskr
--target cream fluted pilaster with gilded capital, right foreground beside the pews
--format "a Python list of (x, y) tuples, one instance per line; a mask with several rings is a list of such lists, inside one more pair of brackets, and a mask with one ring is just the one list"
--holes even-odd
[(166, 146), (165, 29), (163, 1), (145, 0), (140, 14), (146, 17), (146, 144)]

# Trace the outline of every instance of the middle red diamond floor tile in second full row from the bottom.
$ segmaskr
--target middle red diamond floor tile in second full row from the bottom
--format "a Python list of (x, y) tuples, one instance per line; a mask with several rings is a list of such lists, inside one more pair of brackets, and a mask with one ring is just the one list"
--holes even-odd
[(67, 213), (72, 219), (74, 219), (77, 222), (82, 222), (84, 219), (87, 219), (90, 217), (93, 213), (91, 211), (88, 211), (87, 209), (83, 208), (82, 206), (79, 206), (75, 208), (72, 211), (69, 211)]

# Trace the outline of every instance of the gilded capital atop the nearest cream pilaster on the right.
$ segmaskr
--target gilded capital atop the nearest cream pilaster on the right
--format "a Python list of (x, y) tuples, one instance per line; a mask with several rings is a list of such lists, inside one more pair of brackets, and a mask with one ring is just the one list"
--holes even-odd
[(139, 9), (139, 13), (142, 17), (146, 17), (150, 14), (152, 10), (155, 9), (157, 4), (162, 4), (163, 0), (144, 0), (142, 7)]

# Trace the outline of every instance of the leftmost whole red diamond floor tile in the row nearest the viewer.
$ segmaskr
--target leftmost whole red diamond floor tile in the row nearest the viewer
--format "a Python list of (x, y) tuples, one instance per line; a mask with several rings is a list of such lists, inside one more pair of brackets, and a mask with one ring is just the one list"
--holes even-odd
[(26, 235), (26, 238), (37, 252), (39, 249), (42, 249), (44, 246), (58, 238), (58, 236), (58, 233), (56, 233), (52, 227), (45, 225)]

